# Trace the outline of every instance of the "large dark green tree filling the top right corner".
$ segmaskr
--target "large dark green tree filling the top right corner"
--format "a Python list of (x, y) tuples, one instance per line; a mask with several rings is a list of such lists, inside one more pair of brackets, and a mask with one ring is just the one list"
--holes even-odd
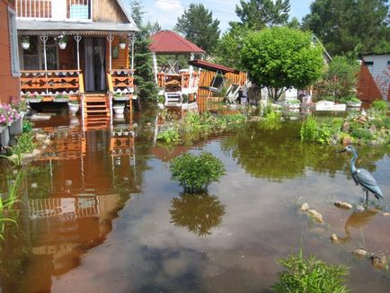
[[(303, 27), (323, 41), (333, 55), (358, 57), (389, 49), (388, 0), (315, 0)], [(387, 51), (388, 52), (388, 51)]]

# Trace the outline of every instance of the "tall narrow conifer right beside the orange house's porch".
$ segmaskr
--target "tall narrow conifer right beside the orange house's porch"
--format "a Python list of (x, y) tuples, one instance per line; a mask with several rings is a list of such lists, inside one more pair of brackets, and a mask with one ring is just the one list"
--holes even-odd
[(131, 17), (140, 31), (136, 33), (134, 44), (134, 81), (137, 95), (141, 100), (155, 100), (157, 98), (157, 84), (153, 73), (152, 53), (149, 50), (149, 31), (142, 26), (142, 6), (138, 1), (130, 3)]

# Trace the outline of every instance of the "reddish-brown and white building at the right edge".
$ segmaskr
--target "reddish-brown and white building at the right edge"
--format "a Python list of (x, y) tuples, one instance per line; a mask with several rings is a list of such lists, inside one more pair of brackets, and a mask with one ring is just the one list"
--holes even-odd
[(390, 54), (361, 58), (358, 97), (363, 102), (390, 102)]

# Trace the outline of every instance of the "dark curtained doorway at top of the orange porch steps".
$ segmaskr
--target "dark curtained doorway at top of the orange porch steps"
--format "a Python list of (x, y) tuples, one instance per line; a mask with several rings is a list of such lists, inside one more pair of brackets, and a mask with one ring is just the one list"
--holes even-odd
[(106, 92), (105, 39), (84, 38), (86, 92)]

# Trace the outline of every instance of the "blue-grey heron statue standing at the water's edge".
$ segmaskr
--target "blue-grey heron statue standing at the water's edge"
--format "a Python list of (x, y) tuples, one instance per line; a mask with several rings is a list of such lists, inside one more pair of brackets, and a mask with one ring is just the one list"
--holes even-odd
[(379, 186), (377, 186), (377, 181), (371, 175), (371, 173), (369, 173), (366, 169), (356, 168), (355, 161), (358, 158), (358, 151), (355, 149), (355, 147), (345, 147), (339, 151), (339, 153), (342, 152), (352, 153), (352, 158), (350, 159), (350, 173), (352, 174), (353, 181), (356, 183), (356, 185), (360, 184), (361, 188), (363, 189), (363, 194), (366, 195), (366, 205), (368, 204), (368, 191), (374, 194), (377, 200), (383, 199), (383, 193)]

